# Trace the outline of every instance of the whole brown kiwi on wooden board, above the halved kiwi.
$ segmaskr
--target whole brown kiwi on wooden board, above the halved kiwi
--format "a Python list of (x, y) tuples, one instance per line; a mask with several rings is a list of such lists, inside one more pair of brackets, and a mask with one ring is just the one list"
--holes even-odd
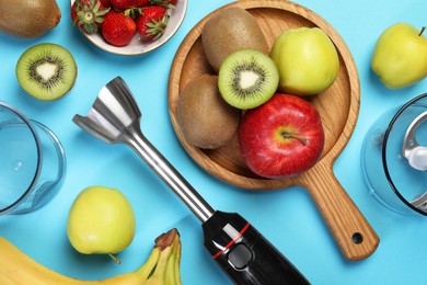
[(230, 7), (210, 18), (201, 31), (201, 44), (215, 71), (224, 58), (240, 49), (269, 53), (267, 39), (255, 18), (240, 7)]

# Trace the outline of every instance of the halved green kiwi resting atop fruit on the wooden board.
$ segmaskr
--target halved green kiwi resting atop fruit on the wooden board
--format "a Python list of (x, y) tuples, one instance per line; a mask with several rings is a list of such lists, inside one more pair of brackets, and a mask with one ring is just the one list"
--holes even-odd
[(230, 105), (247, 110), (267, 102), (276, 92), (279, 72), (275, 62), (256, 49), (241, 49), (226, 57), (218, 87)]

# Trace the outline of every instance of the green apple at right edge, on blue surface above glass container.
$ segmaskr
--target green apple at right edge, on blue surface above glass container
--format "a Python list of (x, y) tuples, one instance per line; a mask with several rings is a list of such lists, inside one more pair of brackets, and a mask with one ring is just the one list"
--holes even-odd
[(407, 23), (396, 23), (378, 38), (371, 68), (390, 89), (400, 89), (427, 76), (427, 38)]

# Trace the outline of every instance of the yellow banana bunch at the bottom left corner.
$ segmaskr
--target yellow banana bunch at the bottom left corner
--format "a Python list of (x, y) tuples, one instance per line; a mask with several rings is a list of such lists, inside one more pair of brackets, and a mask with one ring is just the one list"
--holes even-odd
[(2, 285), (181, 285), (181, 240), (176, 229), (162, 233), (137, 271), (101, 281), (70, 278), (37, 263), (0, 237), (0, 284)]

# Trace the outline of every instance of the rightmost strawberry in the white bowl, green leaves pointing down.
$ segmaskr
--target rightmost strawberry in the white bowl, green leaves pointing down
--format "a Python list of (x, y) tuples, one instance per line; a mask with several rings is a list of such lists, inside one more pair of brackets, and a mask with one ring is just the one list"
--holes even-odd
[(148, 5), (137, 19), (137, 31), (142, 41), (155, 41), (163, 35), (168, 22), (169, 14), (164, 7)]

